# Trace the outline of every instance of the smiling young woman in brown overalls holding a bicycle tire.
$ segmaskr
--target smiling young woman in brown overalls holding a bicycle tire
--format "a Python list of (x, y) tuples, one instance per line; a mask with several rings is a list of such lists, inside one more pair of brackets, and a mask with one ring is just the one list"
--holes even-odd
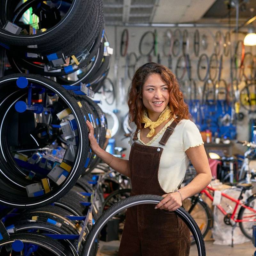
[[(189, 120), (175, 76), (163, 65), (147, 63), (136, 71), (128, 106), (135, 124), (129, 161), (101, 149), (87, 121), (91, 148), (114, 170), (131, 178), (131, 196), (150, 194), (164, 199), (155, 208), (143, 204), (127, 210), (118, 255), (187, 256), (189, 229), (173, 211), (212, 179), (201, 134)], [(189, 159), (197, 175), (180, 188)]]

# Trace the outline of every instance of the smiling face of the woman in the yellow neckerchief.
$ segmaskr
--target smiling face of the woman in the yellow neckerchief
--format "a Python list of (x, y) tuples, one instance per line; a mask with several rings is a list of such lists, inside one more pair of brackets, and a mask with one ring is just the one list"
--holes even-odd
[(148, 76), (142, 87), (142, 102), (150, 113), (161, 113), (169, 103), (169, 87), (161, 79), (161, 76), (154, 73)]

